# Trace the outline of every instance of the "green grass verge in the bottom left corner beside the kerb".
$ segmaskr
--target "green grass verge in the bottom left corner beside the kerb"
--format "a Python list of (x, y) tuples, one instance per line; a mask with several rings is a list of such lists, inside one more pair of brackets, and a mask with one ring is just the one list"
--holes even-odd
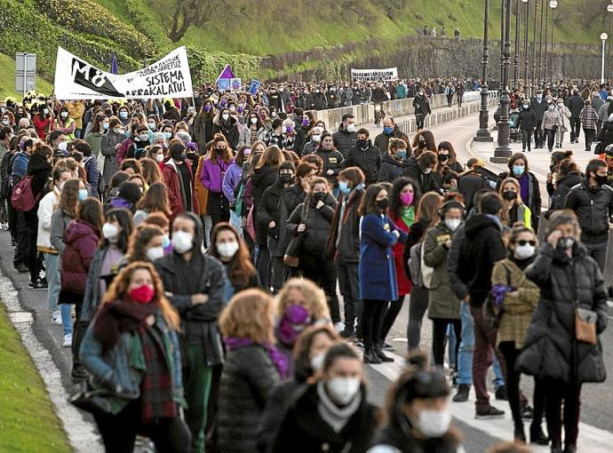
[(0, 305), (0, 451), (71, 451), (34, 362)]

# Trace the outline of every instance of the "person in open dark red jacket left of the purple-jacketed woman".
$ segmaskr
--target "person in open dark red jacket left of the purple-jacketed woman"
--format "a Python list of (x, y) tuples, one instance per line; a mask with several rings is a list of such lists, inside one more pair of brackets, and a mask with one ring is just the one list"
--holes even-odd
[(172, 220), (179, 214), (191, 211), (200, 213), (198, 197), (195, 193), (195, 180), (192, 165), (186, 165), (186, 148), (179, 140), (173, 140), (168, 149), (170, 158), (162, 169), (163, 181), (168, 187), (168, 200), (171, 203)]

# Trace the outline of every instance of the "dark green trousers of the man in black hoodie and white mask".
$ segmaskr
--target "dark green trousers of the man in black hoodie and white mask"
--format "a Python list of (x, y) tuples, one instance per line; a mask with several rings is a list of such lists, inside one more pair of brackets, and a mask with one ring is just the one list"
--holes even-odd
[(183, 387), (187, 401), (185, 421), (192, 433), (191, 451), (200, 453), (204, 451), (204, 426), (211, 394), (212, 367), (207, 365), (203, 345), (187, 345), (184, 351)]

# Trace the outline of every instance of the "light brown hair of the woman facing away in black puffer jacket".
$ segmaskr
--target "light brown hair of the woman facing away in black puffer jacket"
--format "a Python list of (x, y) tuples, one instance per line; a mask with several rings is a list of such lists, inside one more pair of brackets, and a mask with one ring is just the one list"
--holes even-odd
[(226, 338), (249, 338), (260, 345), (274, 343), (274, 311), (272, 296), (255, 288), (243, 290), (219, 314), (219, 330)]

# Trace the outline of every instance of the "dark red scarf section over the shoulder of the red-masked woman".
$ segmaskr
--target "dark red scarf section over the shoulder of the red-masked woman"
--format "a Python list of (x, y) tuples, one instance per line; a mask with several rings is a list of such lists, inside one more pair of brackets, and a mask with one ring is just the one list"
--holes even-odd
[(115, 346), (121, 335), (134, 332), (145, 324), (150, 314), (155, 314), (157, 303), (136, 304), (127, 300), (115, 300), (100, 306), (94, 320), (93, 336), (107, 350)]

